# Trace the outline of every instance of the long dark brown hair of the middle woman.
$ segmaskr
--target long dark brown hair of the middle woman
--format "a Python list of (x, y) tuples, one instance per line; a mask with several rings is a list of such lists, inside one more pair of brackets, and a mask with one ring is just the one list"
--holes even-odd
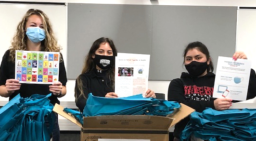
[[(94, 55), (96, 50), (99, 49), (101, 43), (109, 43), (110, 47), (112, 48), (113, 55), (114, 56), (117, 55), (117, 50), (115, 48), (115, 44), (111, 39), (105, 38), (105, 37), (97, 39), (96, 41), (94, 41), (94, 43), (92, 43), (92, 45), (90, 47), (90, 51), (85, 58), (84, 66), (83, 66), (81, 74), (90, 72), (91, 70), (93, 70), (96, 67), (96, 64), (94, 64), (94, 62), (93, 62), (92, 55)], [(110, 66), (110, 68), (108, 69), (107, 77), (109, 77), (110, 82), (111, 82), (110, 83), (111, 86), (109, 86), (109, 87), (112, 87), (112, 89), (114, 89), (114, 86), (115, 86), (115, 63), (113, 63)], [(77, 77), (76, 83), (77, 83), (77, 88), (75, 88), (75, 98), (77, 100), (79, 97), (85, 97), (85, 96), (84, 96), (84, 91), (83, 91), (82, 80), (79, 76)]]

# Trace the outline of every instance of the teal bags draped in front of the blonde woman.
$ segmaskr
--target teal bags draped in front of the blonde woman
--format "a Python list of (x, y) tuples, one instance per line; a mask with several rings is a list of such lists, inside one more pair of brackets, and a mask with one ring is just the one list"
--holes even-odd
[(17, 95), (0, 108), (0, 141), (50, 141), (54, 121), (50, 96)]

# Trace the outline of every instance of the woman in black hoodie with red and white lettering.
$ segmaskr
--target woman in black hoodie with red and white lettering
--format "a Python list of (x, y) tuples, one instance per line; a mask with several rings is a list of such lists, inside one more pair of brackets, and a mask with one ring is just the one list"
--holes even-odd
[[(184, 65), (189, 73), (182, 73), (180, 78), (173, 79), (168, 89), (168, 100), (178, 101), (202, 112), (206, 107), (216, 110), (230, 108), (232, 100), (212, 98), (215, 74), (213, 63), (207, 47), (201, 42), (189, 43), (184, 50)], [(233, 59), (247, 59), (243, 52), (236, 52)], [(256, 96), (256, 74), (251, 69), (247, 99)], [(179, 135), (189, 121), (189, 117), (175, 125), (174, 141), (180, 141)]]

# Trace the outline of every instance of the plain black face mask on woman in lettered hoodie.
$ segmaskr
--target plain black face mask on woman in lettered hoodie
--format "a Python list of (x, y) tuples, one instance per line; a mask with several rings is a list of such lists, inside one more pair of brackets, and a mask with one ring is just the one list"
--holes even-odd
[(200, 76), (205, 72), (208, 65), (207, 65), (207, 61), (205, 63), (192, 61), (190, 64), (185, 65), (185, 67), (186, 67), (186, 69), (187, 69), (187, 71), (189, 72), (190, 75)]

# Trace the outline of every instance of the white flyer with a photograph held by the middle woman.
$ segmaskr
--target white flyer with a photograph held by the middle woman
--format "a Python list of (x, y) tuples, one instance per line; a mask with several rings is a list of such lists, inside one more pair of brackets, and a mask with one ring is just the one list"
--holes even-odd
[(148, 89), (149, 54), (117, 53), (115, 93), (119, 98), (145, 93)]

